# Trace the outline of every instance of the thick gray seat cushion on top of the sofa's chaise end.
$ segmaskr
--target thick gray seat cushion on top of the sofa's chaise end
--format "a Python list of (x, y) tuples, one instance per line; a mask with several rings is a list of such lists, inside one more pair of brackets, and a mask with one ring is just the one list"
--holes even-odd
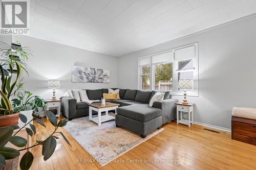
[(162, 115), (162, 111), (148, 105), (131, 105), (117, 108), (117, 114), (129, 117), (139, 122), (147, 122)]

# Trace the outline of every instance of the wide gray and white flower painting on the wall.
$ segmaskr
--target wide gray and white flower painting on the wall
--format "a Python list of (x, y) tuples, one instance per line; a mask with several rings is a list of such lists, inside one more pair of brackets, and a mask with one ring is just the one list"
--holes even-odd
[(72, 82), (110, 83), (110, 70), (74, 65)]

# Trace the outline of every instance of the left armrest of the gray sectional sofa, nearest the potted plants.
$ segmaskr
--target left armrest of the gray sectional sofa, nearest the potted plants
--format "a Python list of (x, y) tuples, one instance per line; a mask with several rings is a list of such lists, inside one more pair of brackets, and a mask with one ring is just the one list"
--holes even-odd
[(68, 119), (76, 117), (76, 99), (61, 98), (61, 112)]

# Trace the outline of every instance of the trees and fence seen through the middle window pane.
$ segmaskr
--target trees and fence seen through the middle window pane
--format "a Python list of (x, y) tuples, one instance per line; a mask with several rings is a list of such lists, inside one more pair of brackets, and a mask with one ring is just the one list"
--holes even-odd
[(172, 90), (173, 63), (154, 65), (154, 90)]

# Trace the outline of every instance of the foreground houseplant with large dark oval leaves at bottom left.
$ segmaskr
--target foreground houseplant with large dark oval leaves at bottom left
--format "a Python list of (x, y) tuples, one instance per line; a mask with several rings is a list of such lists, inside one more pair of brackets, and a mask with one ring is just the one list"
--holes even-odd
[[(45, 126), (45, 124), (39, 119), (39, 118), (32, 118), (28, 121), (27, 117), (23, 114), (19, 114), (20, 120), (25, 124), (23, 127), (19, 128), (18, 126), (9, 126), (9, 127), (2, 127), (0, 128), (0, 169), (5, 167), (6, 160), (13, 159), (19, 156), (20, 151), (27, 151), (22, 159), (20, 160), (19, 167), (22, 170), (29, 169), (33, 163), (34, 156), (29, 151), (30, 148), (37, 147), (38, 145), (42, 145), (42, 155), (44, 156), (44, 160), (49, 159), (52, 154), (55, 151), (56, 148), (56, 139), (58, 137), (56, 136), (57, 133), (59, 133), (63, 139), (66, 140), (66, 142), (70, 145), (67, 138), (63, 135), (63, 133), (57, 131), (59, 127), (63, 127), (67, 125), (68, 119), (61, 119), (59, 122), (57, 122), (57, 118), (51, 111), (46, 111), (46, 114), (51, 122), (51, 124), (55, 127), (54, 131), (47, 137), (46, 139), (38, 139), (34, 144), (31, 145), (31, 147), (27, 147), (27, 139), (17, 136), (18, 132), (22, 129), (24, 129), (27, 125), (30, 126), (30, 128), (26, 128), (27, 133), (30, 136), (33, 136), (36, 134), (36, 127), (31, 124), (33, 120), (35, 120), (37, 123), (39, 123), (41, 126)], [(13, 134), (13, 131), (17, 130), (16, 133)], [(16, 150), (14, 148), (6, 147), (6, 144), (11, 142), (16, 147), (19, 147), (19, 150)]]

